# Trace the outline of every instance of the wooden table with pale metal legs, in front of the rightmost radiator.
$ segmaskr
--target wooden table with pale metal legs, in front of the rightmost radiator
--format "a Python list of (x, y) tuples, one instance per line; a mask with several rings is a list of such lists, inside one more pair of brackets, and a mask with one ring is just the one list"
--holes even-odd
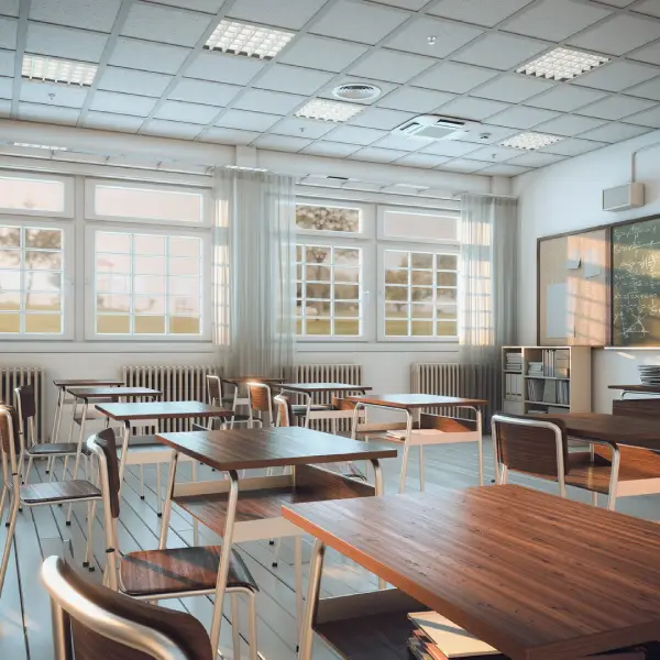
[[(453, 396), (436, 396), (430, 394), (370, 394), (366, 396), (348, 396), (346, 400), (355, 404), (353, 413), (352, 437), (360, 429), (360, 411), (367, 406), (399, 410), (406, 414), (406, 424), (402, 425), (363, 425), (363, 431), (399, 431), (398, 439), (404, 442), (404, 459), (399, 493), (406, 487), (408, 455), (411, 447), (419, 447), (419, 488), (424, 491), (424, 447), (426, 444), (450, 444), (454, 442), (476, 442), (479, 446), (479, 483), (484, 484), (484, 457), (482, 444), (481, 407), (488, 402), (483, 399), (458, 398)], [(463, 408), (472, 410), (475, 420), (457, 419), (438, 415), (426, 415), (422, 408)], [(418, 417), (418, 429), (414, 429), (415, 417)]]

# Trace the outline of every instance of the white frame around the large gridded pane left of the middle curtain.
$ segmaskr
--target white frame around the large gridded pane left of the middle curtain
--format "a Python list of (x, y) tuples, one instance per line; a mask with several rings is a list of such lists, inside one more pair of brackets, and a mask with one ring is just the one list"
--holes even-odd
[[(96, 232), (119, 232), (186, 237), (201, 240), (201, 333), (189, 334), (109, 334), (96, 331)], [(102, 342), (208, 343), (212, 339), (212, 237), (210, 229), (194, 229), (172, 224), (161, 227), (128, 227), (121, 222), (88, 222), (85, 228), (85, 339)], [(208, 267), (207, 267), (208, 266)]]

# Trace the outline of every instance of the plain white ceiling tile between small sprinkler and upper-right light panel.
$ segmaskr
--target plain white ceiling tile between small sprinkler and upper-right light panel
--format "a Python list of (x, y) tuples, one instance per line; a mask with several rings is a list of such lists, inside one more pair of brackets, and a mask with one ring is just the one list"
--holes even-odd
[(543, 42), (491, 32), (455, 54), (452, 59), (508, 70), (547, 48), (548, 45)]

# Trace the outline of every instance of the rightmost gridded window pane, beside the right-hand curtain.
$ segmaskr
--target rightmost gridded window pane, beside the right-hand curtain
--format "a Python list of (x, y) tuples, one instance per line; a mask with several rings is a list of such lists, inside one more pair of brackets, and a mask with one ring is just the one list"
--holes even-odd
[(458, 336), (458, 255), (383, 250), (384, 337)]

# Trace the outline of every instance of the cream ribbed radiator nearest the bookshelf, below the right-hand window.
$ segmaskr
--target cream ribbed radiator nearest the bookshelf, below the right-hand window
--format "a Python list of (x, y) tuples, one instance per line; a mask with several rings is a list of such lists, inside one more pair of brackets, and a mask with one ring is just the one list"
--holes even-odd
[[(482, 408), (484, 432), (490, 432), (491, 417), (499, 402), (502, 377), (497, 367), (485, 364), (413, 364), (410, 391), (415, 394), (462, 396), (488, 402)], [(466, 417), (460, 408), (451, 413)]]

